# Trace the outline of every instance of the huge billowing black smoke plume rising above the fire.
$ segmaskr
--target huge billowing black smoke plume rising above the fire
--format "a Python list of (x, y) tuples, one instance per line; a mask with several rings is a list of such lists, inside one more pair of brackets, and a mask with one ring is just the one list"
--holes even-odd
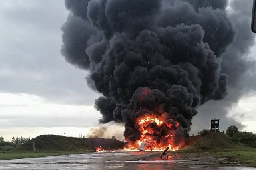
[[(212, 101), (237, 88), (250, 67), (242, 56), (254, 38), (234, 4), (236, 13), (227, 15), (226, 0), (65, 0), (71, 14), (62, 27), (62, 55), (91, 73), (88, 83), (103, 95), (95, 101), (101, 123), (124, 123), (134, 141), (141, 135), (135, 119), (161, 111), (169, 121), (157, 137), (171, 120), (187, 135), (196, 108), (222, 103)], [(228, 107), (220, 108), (223, 117)]]

